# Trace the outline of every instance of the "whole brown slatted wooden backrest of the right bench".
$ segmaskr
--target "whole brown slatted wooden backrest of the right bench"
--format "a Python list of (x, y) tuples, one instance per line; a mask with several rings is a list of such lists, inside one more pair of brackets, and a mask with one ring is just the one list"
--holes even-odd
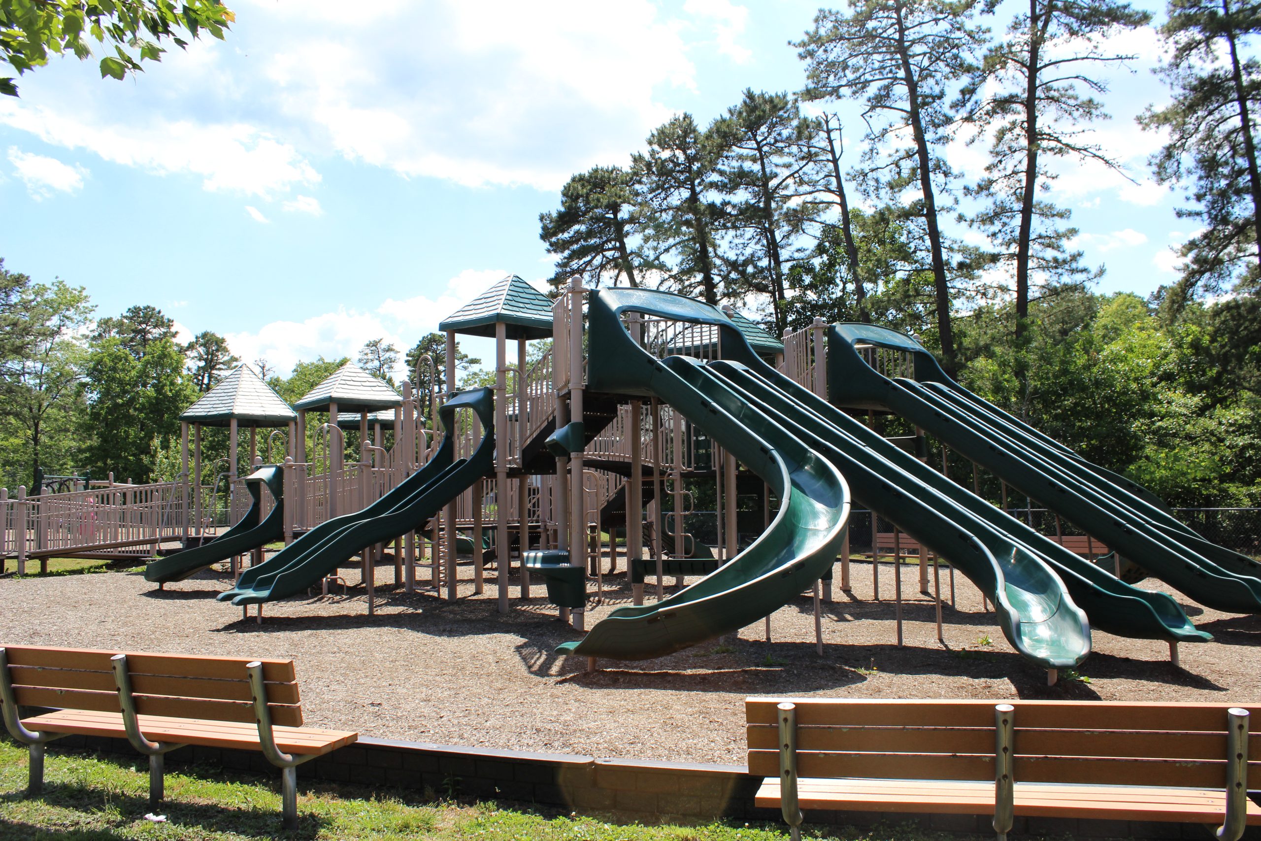
[[(996, 701), (745, 700), (749, 773), (777, 777), (776, 705), (797, 705), (801, 777), (994, 780)], [(1226, 704), (1008, 701), (1013, 778), (1221, 789), (1227, 780)], [(1252, 716), (1261, 705), (1238, 705)], [(1248, 774), (1261, 779), (1261, 734)]]

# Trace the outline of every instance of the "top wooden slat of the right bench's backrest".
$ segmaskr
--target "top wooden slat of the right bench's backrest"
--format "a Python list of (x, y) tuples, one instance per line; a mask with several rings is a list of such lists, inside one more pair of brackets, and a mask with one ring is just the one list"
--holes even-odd
[[(878, 700), (878, 699), (745, 699), (749, 724), (774, 725), (776, 705), (791, 701), (797, 705), (797, 726), (900, 726), (914, 721), (917, 726), (992, 728), (994, 705), (1001, 701), (976, 700)], [(1261, 705), (1238, 704), (1255, 719), (1261, 717)], [(1207, 730), (1226, 729), (1226, 711), (1221, 704), (1151, 704), (1146, 701), (1020, 701), (1016, 730)], [(1124, 726), (1117, 728), (1117, 722)]]

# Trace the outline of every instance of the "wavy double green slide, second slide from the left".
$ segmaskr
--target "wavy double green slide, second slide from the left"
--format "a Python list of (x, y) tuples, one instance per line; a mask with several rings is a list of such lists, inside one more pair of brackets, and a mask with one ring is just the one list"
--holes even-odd
[(438, 453), (397, 488), (351, 514), (335, 517), (306, 532), (270, 560), (246, 570), (219, 601), (260, 604), (301, 593), (372, 543), (424, 527), (438, 511), (494, 467), (494, 392), (477, 388), (453, 396), (440, 410), (443, 429), (453, 430), (455, 410), (472, 409), (485, 430), (473, 455), (454, 459), (455, 436), (446, 435)]

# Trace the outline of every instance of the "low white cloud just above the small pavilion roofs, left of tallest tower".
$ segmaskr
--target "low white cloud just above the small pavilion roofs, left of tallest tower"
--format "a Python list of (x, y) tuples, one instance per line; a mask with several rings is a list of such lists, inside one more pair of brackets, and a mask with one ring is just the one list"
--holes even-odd
[[(385, 338), (398, 348), (400, 364), (393, 372), (396, 380), (409, 378), (402, 363), (406, 353), (426, 333), (438, 329), (439, 322), (458, 310), (494, 281), (508, 272), (502, 269), (467, 269), (451, 277), (436, 295), (416, 295), (405, 300), (386, 299), (378, 306), (338, 306), (335, 310), (313, 315), (301, 322), (277, 320), (257, 330), (228, 333), (232, 353), (242, 359), (266, 359), (281, 373), (293, 369), (301, 359), (323, 356), (338, 359), (358, 354), (366, 342)], [(462, 339), (469, 348), (475, 340)], [(473, 353), (487, 359), (480, 351)], [(493, 359), (492, 359), (493, 362)]]

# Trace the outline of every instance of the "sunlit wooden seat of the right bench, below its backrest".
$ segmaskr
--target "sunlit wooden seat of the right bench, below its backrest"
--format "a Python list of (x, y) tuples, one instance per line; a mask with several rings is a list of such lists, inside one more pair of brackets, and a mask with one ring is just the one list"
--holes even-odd
[[(1190, 792), (1190, 794), (1188, 794)], [(992, 815), (994, 783), (938, 780), (812, 779), (798, 780), (803, 809), (859, 809), (941, 815)], [(778, 808), (779, 780), (758, 789), (760, 808)], [(1028, 817), (1161, 820), (1217, 823), (1226, 808), (1222, 792), (1130, 786), (1015, 784), (1015, 813)], [(1248, 802), (1247, 822), (1261, 825), (1261, 807)]]

